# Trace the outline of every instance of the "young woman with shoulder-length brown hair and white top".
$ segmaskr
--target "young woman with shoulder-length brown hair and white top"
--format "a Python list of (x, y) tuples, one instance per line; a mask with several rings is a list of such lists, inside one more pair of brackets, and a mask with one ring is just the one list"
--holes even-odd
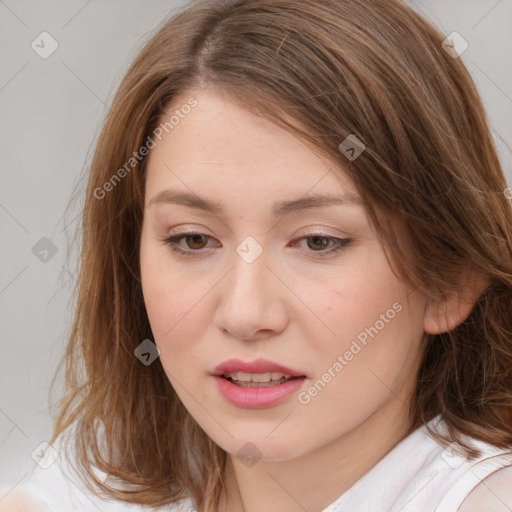
[(512, 211), (443, 40), (395, 0), (162, 26), (91, 166), (59, 462), (27, 492), (510, 510)]

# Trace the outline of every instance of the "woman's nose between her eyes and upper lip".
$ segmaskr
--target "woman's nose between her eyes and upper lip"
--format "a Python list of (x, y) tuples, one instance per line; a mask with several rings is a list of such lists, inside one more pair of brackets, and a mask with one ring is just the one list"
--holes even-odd
[(215, 324), (234, 338), (266, 339), (288, 325), (287, 290), (269, 259), (264, 251), (248, 263), (234, 253), (231, 271), (217, 289)]

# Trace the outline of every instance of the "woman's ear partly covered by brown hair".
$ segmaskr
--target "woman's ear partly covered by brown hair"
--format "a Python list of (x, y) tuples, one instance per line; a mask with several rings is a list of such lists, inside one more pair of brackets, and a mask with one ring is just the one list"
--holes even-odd
[(428, 334), (449, 332), (464, 322), (490, 282), (475, 272), (461, 274), (457, 290), (440, 299), (429, 299), (425, 308), (424, 329)]

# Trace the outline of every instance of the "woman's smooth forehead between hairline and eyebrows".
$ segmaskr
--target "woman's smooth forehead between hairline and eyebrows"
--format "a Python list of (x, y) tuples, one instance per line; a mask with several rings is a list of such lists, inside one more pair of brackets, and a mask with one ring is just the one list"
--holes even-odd
[(147, 195), (153, 197), (170, 186), (238, 197), (288, 197), (308, 190), (357, 195), (339, 164), (284, 128), (219, 95), (184, 94), (173, 101), (162, 122), (190, 97), (196, 106), (187, 109), (186, 115), (181, 113), (150, 151)]

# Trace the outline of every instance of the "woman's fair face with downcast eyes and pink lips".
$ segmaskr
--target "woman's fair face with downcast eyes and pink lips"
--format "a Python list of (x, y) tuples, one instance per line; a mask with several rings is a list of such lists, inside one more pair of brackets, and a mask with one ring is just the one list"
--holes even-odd
[[(190, 414), (229, 453), (284, 460), (405, 402), (425, 298), (392, 272), (339, 165), (220, 96), (192, 91), (175, 110), (149, 156), (140, 256), (160, 360)], [(249, 364), (228, 368), (238, 383), (214, 375), (230, 359)]]

